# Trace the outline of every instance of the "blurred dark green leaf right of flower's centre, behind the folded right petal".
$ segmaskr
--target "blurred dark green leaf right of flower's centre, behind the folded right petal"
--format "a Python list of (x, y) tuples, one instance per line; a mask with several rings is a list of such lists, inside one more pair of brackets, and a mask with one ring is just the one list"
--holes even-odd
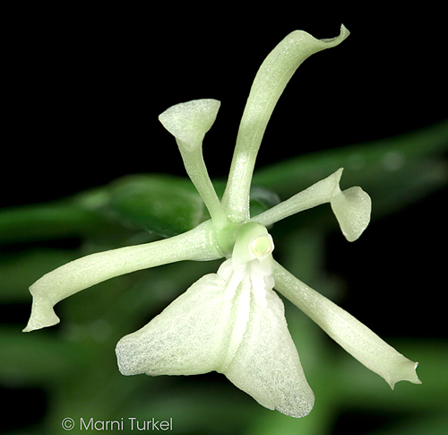
[[(362, 186), (370, 196), (411, 199), (446, 185), (448, 121), (406, 135), (315, 152), (282, 161), (255, 172), (254, 183), (277, 192), (282, 199), (295, 195), (339, 168), (344, 186)], [(409, 183), (412, 188), (409, 188)], [(374, 210), (375, 210), (374, 206)]]

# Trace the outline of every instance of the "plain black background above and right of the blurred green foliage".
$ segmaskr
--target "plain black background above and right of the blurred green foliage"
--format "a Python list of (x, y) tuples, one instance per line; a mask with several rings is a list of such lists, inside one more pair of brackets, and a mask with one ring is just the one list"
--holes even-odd
[[(28, 6), (5, 15), (0, 206), (55, 200), (132, 173), (184, 175), (157, 117), (200, 98), (221, 101), (204, 155), (211, 177), (225, 177), (254, 75), (292, 30), (332, 38), (344, 23), (351, 35), (299, 68), (271, 118), (258, 167), (448, 116), (443, 10), (333, 13), (322, 5), (306, 13), (279, 5), (251, 13), (108, 5)], [(446, 337), (446, 193), (375, 222), (357, 244), (329, 240), (327, 268), (347, 282), (344, 308), (380, 335)], [(353, 272), (369, 261), (369, 276)], [(397, 310), (408, 316), (394, 322)]]

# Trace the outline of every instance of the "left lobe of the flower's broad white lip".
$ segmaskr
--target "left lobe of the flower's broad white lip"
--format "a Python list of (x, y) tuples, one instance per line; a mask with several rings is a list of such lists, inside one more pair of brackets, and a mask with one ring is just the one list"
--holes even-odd
[(116, 344), (124, 375), (194, 375), (216, 370), (229, 335), (227, 283), (208, 274), (174, 300), (159, 316)]

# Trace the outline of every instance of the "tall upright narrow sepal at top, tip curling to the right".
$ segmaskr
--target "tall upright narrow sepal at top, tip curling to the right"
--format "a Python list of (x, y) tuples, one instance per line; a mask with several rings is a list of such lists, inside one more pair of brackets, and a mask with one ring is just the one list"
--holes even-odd
[(256, 155), (264, 130), (281, 93), (306, 58), (340, 44), (349, 30), (340, 28), (333, 39), (315, 39), (303, 30), (290, 33), (263, 61), (255, 76), (246, 108), (241, 118), (237, 145), (222, 202), (233, 222), (249, 219), (249, 190)]

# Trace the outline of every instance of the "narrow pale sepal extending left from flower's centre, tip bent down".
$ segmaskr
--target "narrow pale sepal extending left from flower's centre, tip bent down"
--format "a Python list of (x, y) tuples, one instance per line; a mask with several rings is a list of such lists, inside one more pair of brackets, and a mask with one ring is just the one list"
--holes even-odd
[(57, 302), (121, 274), (182, 260), (222, 257), (211, 239), (211, 221), (170, 239), (112, 249), (74, 260), (45, 274), (30, 286), (31, 316), (23, 332), (59, 323)]

